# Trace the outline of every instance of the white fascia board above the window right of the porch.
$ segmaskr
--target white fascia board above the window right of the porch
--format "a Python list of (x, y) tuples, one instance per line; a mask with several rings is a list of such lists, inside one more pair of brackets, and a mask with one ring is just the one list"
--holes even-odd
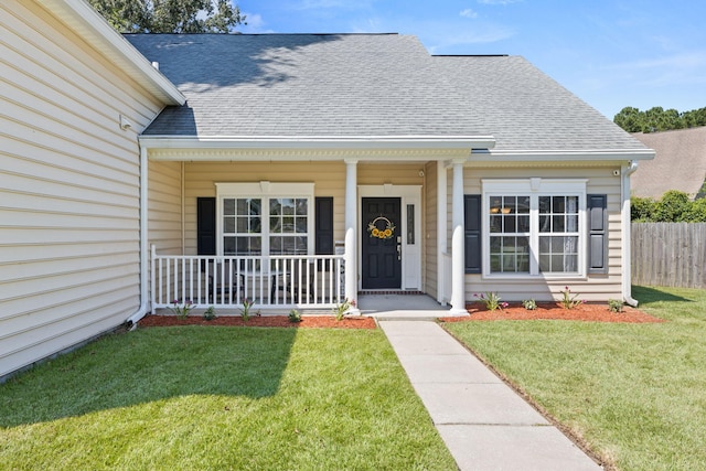
[(470, 161), (494, 162), (560, 162), (560, 161), (620, 161), (652, 160), (652, 149), (616, 149), (616, 150), (473, 150)]

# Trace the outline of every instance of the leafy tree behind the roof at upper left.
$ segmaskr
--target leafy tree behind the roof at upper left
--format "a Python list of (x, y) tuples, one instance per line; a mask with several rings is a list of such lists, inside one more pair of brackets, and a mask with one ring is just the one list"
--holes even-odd
[(245, 22), (231, 0), (89, 0), (121, 33), (229, 33)]

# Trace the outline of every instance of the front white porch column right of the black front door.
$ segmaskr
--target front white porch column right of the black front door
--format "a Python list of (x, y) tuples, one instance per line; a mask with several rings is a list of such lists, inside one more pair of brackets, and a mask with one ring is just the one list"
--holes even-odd
[(466, 268), (463, 243), (463, 160), (453, 161), (453, 189), (451, 201), (451, 311), (452, 315), (467, 315)]

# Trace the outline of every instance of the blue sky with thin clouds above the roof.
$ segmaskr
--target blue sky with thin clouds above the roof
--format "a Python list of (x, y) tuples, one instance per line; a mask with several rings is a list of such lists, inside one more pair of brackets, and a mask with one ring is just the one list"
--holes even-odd
[(432, 54), (522, 55), (608, 118), (706, 107), (698, 0), (237, 0), (244, 33), (414, 34)]

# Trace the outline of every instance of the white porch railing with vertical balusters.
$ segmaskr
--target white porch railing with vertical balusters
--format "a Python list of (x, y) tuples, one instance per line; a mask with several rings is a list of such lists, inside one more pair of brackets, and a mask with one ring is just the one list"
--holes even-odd
[(332, 308), (344, 300), (343, 256), (158, 255), (152, 246), (152, 310), (191, 301), (196, 309)]

